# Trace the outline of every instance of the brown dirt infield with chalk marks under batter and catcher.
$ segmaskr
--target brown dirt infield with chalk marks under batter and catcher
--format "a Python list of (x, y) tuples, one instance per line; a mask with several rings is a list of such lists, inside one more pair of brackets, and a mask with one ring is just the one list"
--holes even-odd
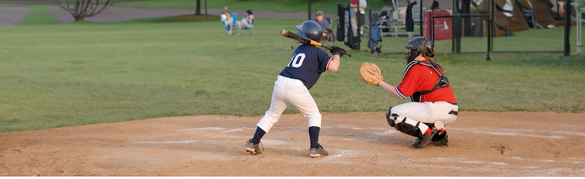
[(0, 134), (0, 176), (585, 176), (585, 114), (462, 112), (451, 146), (413, 149), (383, 112), (283, 115), (264, 153), (244, 145), (260, 117), (199, 115)]

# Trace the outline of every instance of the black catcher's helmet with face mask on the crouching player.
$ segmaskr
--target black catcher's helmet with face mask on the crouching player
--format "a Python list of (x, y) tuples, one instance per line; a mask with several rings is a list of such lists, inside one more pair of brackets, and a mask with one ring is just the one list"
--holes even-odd
[(406, 47), (408, 52), (406, 53), (406, 61), (409, 63), (413, 61), (418, 55), (423, 54), (426, 57), (435, 57), (435, 44), (433, 41), (426, 37), (414, 37), (408, 41)]

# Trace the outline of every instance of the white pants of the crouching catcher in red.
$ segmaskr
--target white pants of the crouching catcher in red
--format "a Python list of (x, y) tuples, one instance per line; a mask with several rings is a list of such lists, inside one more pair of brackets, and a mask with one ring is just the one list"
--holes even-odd
[[(433, 102), (410, 102), (394, 106), (390, 109), (390, 114), (398, 114), (400, 117), (395, 122), (401, 122), (404, 118), (407, 124), (416, 126), (418, 122), (434, 123), (441, 121), (443, 124), (455, 122), (457, 115), (449, 114), (450, 111), (457, 111), (457, 105), (447, 103), (446, 101)], [(426, 125), (419, 125), (421, 132), (425, 132), (428, 127)]]

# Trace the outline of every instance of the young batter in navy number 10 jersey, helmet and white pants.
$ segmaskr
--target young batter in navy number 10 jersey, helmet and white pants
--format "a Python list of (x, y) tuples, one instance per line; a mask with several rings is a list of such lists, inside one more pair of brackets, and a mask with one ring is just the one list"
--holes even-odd
[[(307, 20), (297, 26), (298, 34), (314, 41), (320, 41), (323, 36), (321, 26), (312, 20)], [(315, 85), (321, 73), (329, 70), (337, 71), (339, 58), (345, 54), (345, 50), (333, 47), (332, 57), (315, 45), (302, 44), (292, 54), (290, 62), (285, 66), (276, 82), (272, 92), (270, 108), (258, 122), (256, 134), (246, 143), (246, 151), (253, 155), (262, 153), (260, 139), (270, 131), (270, 128), (278, 121), (280, 114), (290, 104), (296, 107), (302, 115), (309, 120), (309, 138), (311, 148), (310, 157), (328, 155), (328, 152), (319, 145), (319, 129), (321, 129), (321, 114), (315, 104), (315, 100), (309, 93), (309, 89)]]

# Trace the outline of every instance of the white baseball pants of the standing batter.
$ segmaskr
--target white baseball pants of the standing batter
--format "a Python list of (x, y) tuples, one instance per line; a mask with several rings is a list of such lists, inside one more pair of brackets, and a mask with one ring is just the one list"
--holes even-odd
[(272, 103), (270, 109), (266, 111), (264, 117), (256, 124), (264, 132), (269, 132), (270, 128), (278, 121), (280, 115), (292, 104), (301, 112), (302, 115), (308, 118), (309, 127), (321, 128), (321, 113), (309, 90), (298, 79), (286, 78), (278, 75), (278, 79), (274, 82), (274, 90), (272, 92)]

